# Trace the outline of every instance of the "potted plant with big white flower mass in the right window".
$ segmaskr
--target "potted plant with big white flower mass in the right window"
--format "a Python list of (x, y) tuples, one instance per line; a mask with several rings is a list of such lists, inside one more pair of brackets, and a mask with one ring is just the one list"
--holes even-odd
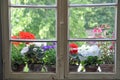
[[(96, 42), (87, 42), (78, 49), (79, 59), (86, 72), (96, 72), (100, 60), (100, 48)], [(81, 70), (83, 71), (83, 69)]]

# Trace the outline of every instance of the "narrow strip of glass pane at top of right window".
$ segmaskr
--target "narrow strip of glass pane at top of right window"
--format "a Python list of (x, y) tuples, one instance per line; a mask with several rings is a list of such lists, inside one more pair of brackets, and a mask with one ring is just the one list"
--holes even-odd
[(116, 0), (69, 0), (70, 4), (98, 4), (115, 3)]

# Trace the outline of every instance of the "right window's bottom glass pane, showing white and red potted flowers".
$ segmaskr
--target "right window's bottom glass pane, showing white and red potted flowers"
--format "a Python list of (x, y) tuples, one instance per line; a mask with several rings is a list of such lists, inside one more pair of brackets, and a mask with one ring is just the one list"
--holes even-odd
[(115, 42), (69, 42), (70, 72), (114, 72)]

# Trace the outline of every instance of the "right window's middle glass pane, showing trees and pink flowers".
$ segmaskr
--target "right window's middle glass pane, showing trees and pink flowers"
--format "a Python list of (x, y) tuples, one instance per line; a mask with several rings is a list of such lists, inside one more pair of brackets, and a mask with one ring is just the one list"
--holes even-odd
[(114, 38), (115, 7), (69, 9), (70, 38)]

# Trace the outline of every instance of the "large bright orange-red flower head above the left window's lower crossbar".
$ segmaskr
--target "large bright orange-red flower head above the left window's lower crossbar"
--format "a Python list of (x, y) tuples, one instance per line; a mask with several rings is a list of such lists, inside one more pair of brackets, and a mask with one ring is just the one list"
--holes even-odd
[(23, 32), (21, 31), (19, 33), (19, 38), (20, 39), (35, 39), (34, 34), (30, 33), (30, 32)]

